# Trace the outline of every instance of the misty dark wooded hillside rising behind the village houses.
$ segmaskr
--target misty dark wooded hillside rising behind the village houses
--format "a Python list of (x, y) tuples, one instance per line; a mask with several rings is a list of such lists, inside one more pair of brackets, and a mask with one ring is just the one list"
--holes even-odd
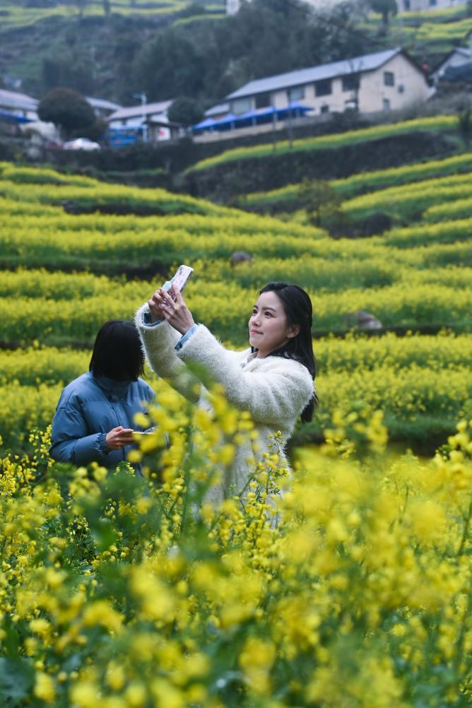
[(310, 10), (300, 0), (253, 0), (232, 17), (222, 0), (38, 0), (0, 13), (0, 77), (23, 91), (61, 84), (124, 104), (145, 91), (204, 108), (251, 79), (392, 46), (434, 68), (472, 29), (466, 4), (387, 27), (355, 2)]

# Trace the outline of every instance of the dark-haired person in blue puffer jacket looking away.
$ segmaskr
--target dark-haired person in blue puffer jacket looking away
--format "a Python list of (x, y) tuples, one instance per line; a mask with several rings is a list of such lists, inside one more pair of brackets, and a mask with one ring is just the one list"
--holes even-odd
[(143, 374), (144, 354), (134, 323), (114, 319), (97, 334), (89, 370), (64, 388), (52, 421), (50, 455), (59, 462), (99, 462), (116, 467), (126, 459), (134, 415), (154, 399)]

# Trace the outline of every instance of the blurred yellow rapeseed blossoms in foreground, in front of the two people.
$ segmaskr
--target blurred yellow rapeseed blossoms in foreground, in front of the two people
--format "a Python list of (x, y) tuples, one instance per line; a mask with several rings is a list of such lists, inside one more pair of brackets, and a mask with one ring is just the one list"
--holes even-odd
[(468, 705), (472, 421), (420, 462), (386, 455), (380, 413), (337, 413), (326, 450), (289, 471), (277, 434), (214, 501), (251, 421), (220, 387), (202, 411), (160, 386), (142, 479), (52, 465), (47, 434), (1, 461), (1, 700)]

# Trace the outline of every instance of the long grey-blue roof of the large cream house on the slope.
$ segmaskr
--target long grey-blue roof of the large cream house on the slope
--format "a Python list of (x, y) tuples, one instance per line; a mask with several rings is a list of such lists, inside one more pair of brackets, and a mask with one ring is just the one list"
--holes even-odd
[(393, 59), (393, 57), (401, 51), (401, 47), (396, 47), (395, 49), (385, 50), (384, 52), (375, 52), (374, 54), (366, 54), (362, 57), (343, 59), (340, 62), (331, 62), (331, 64), (318, 64), (316, 67), (298, 69), (296, 72), (266, 76), (264, 79), (249, 81), (248, 84), (241, 86), (241, 89), (229, 93), (226, 98), (243, 98), (244, 96), (253, 96), (255, 93), (290, 89), (292, 86), (309, 84), (312, 81), (334, 79), (336, 76), (345, 76), (345, 74), (372, 72), (390, 59)]

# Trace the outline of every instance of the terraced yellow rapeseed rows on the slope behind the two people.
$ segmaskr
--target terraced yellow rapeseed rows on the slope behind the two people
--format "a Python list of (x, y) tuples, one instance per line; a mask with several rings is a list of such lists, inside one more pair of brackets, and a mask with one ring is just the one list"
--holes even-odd
[[(444, 442), (472, 402), (472, 219), (454, 219), (454, 210), (464, 216), (470, 164), (461, 154), (333, 183), (354, 217), (384, 210), (408, 223), (355, 240), (163, 190), (1, 164), (4, 445), (23, 447), (30, 427), (50, 421), (62, 385), (86, 370), (100, 324), (131, 318), (183, 262), (195, 268), (186, 297), (196, 319), (236, 348), (265, 282), (310, 292), (321, 406), (298, 440), (321, 440), (336, 411), (362, 401), (384, 411), (393, 440)], [(447, 220), (434, 212), (437, 195)], [(231, 267), (236, 250), (252, 261)], [(359, 331), (359, 310), (387, 333)]]

